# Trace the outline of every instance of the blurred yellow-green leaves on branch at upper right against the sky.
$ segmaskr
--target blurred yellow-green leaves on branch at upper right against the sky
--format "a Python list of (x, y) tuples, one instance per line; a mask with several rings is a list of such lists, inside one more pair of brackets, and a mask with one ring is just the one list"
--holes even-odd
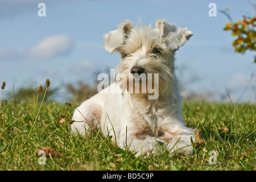
[[(256, 16), (249, 17), (243, 16), (243, 19), (238, 19), (237, 22), (233, 23), (232, 19), (226, 13), (226, 11), (221, 11), (228, 16), (230, 22), (226, 23), (224, 27), (225, 31), (232, 31), (232, 35), (236, 37), (233, 42), (233, 47), (236, 52), (245, 53), (245, 51), (255, 51), (255, 41), (256, 41)], [(256, 56), (254, 56), (254, 63), (256, 63)]]

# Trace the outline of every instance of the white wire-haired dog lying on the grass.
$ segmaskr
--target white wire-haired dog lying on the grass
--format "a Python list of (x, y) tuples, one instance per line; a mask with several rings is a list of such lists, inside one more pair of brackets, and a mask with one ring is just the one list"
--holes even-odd
[[(185, 126), (175, 75), (175, 51), (192, 35), (187, 28), (160, 19), (156, 27), (134, 27), (125, 20), (117, 30), (105, 34), (106, 51), (121, 53), (116, 70), (121, 78), (116, 77), (113, 84), (75, 110), (73, 133), (90, 137), (92, 127), (101, 129), (136, 156), (155, 153), (161, 144), (171, 152), (192, 155), (195, 130)], [(137, 92), (135, 82), (141, 86)]]

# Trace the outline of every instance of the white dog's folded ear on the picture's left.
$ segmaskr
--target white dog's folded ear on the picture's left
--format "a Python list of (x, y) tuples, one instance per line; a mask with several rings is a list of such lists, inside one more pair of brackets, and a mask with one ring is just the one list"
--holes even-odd
[(125, 20), (125, 23), (118, 24), (118, 27), (117, 30), (110, 31), (103, 36), (105, 40), (103, 47), (111, 53), (117, 51), (118, 47), (125, 42), (134, 25), (129, 20)]

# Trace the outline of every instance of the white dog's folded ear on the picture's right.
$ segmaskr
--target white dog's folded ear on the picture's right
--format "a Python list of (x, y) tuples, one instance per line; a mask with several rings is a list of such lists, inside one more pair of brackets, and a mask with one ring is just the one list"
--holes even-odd
[(156, 20), (155, 26), (160, 31), (162, 42), (171, 50), (179, 49), (193, 35), (187, 28), (177, 27), (166, 20)]

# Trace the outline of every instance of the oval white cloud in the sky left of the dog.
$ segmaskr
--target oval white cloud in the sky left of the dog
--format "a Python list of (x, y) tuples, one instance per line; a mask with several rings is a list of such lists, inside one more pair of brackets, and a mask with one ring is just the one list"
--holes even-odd
[(41, 40), (34, 47), (28, 49), (27, 57), (30, 59), (51, 59), (65, 55), (73, 48), (73, 41), (67, 35), (56, 35)]

